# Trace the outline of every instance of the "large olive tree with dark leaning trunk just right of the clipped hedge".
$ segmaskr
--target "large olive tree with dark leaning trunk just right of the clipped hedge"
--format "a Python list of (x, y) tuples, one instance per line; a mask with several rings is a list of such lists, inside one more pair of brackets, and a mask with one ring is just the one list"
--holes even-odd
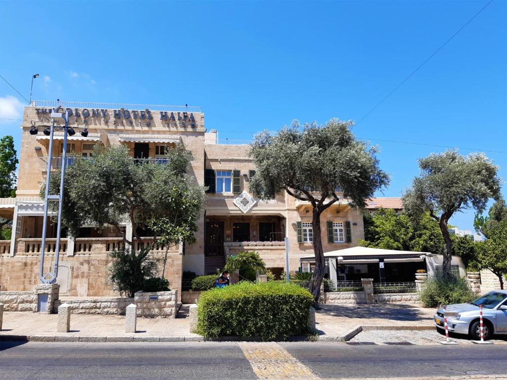
[(363, 208), (365, 201), (389, 181), (379, 168), (375, 147), (357, 140), (352, 125), (338, 119), (304, 126), (293, 121), (277, 133), (256, 135), (250, 147), (256, 173), (249, 187), (255, 196), (273, 199), (287, 192), (313, 208), (315, 270), (309, 290), (316, 307), (325, 271), (320, 215), (338, 202), (341, 194), (350, 206)]

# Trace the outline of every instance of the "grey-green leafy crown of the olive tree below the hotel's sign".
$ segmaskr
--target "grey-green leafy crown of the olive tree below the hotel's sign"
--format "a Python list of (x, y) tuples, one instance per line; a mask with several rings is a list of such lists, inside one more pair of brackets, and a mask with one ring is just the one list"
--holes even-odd
[[(93, 148), (93, 160), (75, 158), (65, 170), (62, 204), (62, 225), (69, 235), (77, 236), (84, 224), (98, 230), (111, 226), (127, 244), (133, 245), (133, 238), (126, 236), (122, 223), (129, 221), (132, 235), (142, 241), (139, 229), (160, 219), (170, 221), (164, 222), (171, 228), (171, 238), (166, 242), (190, 241), (204, 205), (204, 187), (186, 174), (191, 152), (177, 145), (167, 149), (165, 158), (163, 164), (141, 164), (129, 156), (124, 145), (99, 144)], [(50, 194), (57, 194), (59, 186), (60, 174), (56, 172), (51, 176)], [(181, 211), (190, 209), (192, 213), (182, 217)], [(163, 229), (157, 226), (161, 233)], [(180, 235), (175, 237), (175, 233)]]

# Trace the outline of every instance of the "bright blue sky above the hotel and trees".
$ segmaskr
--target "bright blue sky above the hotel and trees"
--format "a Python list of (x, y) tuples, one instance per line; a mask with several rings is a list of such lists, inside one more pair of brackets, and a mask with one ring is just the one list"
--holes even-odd
[[(0, 74), (28, 98), (40, 73), (37, 100), (199, 105), (221, 139), (249, 140), (293, 119), (360, 120), (487, 3), (4, 0)], [(354, 127), (381, 148), (384, 196), (445, 148), (380, 140), (492, 150), (507, 178), (493, 152), (507, 151), (506, 14), (494, 0)], [(0, 98), (0, 117), (20, 119), (24, 100), (2, 80)], [(0, 119), (18, 150), (19, 124)], [(451, 222), (473, 229), (473, 212)]]

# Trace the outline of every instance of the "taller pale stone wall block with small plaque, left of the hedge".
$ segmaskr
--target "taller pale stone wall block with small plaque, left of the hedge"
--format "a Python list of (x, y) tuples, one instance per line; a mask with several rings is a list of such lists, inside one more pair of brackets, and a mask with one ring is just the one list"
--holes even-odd
[(138, 317), (176, 318), (178, 291), (136, 292), (134, 303)]

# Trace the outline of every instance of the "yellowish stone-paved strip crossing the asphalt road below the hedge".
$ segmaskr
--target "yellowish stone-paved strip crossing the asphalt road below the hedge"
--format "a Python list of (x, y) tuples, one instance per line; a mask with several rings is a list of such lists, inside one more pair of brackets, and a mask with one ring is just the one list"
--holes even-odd
[(261, 380), (319, 378), (277, 343), (240, 342), (238, 345)]

